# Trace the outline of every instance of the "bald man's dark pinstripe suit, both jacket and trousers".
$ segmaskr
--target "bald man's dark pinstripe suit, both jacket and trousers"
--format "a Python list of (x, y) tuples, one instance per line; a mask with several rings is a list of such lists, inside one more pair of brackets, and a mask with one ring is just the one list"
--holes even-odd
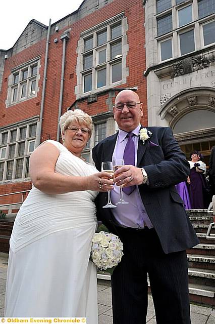
[[(188, 324), (188, 276), (185, 249), (198, 244), (198, 238), (184, 210), (175, 184), (186, 180), (190, 168), (170, 128), (147, 127), (149, 140), (139, 139), (137, 167), (144, 167), (149, 185), (139, 191), (154, 229), (116, 226), (106, 204), (106, 193), (96, 199), (97, 215), (124, 243), (124, 257), (112, 276), (114, 324), (145, 323), (147, 313), (147, 273), (157, 323)], [(112, 160), (117, 134), (93, 149), (98, 170), (102, 161)], [(152, 144), (151, 144), (152, 143)], [(156, 145), (154, 145), (156, 144)]]

